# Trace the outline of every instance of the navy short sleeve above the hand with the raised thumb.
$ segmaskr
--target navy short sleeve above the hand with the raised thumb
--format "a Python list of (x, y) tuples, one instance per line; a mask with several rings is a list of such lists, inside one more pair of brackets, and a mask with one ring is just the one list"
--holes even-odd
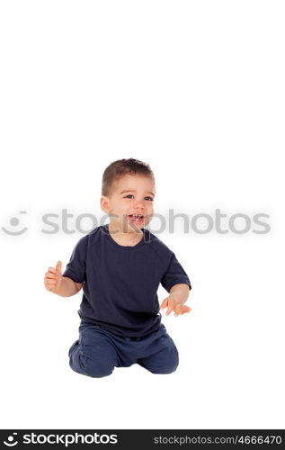
[(87, 237), (81, 238), (74, 248), (67, 268), (62, 276), (71, 278), (76, 283), (86, 281)]

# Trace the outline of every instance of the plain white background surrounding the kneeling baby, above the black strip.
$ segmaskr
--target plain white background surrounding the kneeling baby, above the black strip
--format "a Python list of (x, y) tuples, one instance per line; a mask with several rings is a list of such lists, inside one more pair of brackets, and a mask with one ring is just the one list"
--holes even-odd
[[(0, 9), (1, 427), (284, 428), (283, 2)], [(76, 218), (103, 216), (102, 172), (123, 157), (152, 167), (157, 213), (219, 209), (223, 229), (236, 213), (252, 225), (201, 234), (177, 219), (174, 233), (154, 231), (192, 284), (191, 313), (162, 311), (180, 365), (94, 379), (68, 365), (82, 292), (58, 297), (43, 279), (84, 235)], [(253, 232), (257, 213), (270, 232)]]

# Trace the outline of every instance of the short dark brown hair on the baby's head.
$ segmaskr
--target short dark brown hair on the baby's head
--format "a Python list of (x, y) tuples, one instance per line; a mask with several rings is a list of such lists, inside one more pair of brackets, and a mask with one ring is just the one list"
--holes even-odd
[(111, 194), (113, 183), (123, 175), (146, 175), (155, 182), (155, 175), (147, 163), (129, 157), (128, 159), (117, 159), (107, 166), (102, 175), (102, 195)]

